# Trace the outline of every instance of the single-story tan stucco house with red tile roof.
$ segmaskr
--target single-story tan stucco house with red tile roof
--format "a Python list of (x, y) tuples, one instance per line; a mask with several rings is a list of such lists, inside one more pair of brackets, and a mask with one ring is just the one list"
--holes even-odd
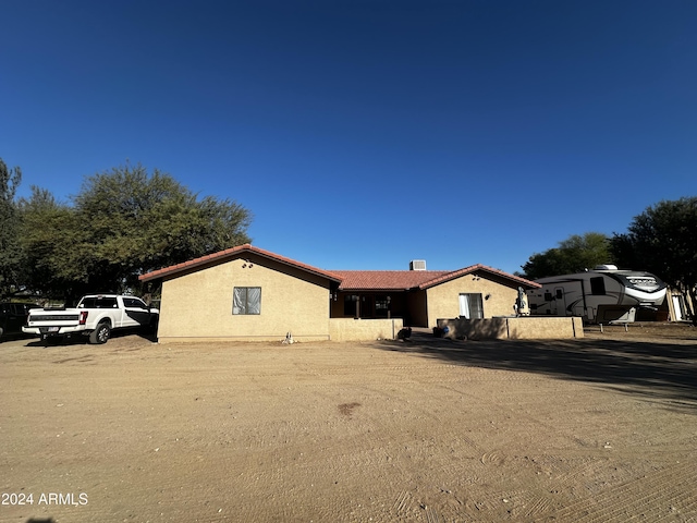
[(539, 287), (484, 265), (328, 271), (249, 244), (139, 279), (161, 281), (160, 341), (268, 341), (288, 333), (315, 341), (338, 339), (338, 329), (347, 339), (353, 318), (375, 320), (380, 337), (393, 338), (403, 326), (435, 327), (439, 318), (512, 315), (518, 288)]

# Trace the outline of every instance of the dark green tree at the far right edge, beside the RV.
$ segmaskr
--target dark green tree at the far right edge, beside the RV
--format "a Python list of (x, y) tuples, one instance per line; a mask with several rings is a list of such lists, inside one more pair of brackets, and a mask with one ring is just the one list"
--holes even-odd
[[(663, 200), (636, 216), (610, 248), (619, 263), (656, 273), (695, 303), (697, 287), (697, 197)], [(690, 305), (688, 304), (688, 307)], [(689, 311), (695, 319), (695, 311)]]

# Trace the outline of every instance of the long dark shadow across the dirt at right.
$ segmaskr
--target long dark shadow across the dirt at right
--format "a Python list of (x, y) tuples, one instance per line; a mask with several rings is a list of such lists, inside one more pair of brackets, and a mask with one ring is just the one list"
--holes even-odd
[(600, 384), (647, 399), (668, 399), (675, 408), (697, 413), (697, 343), (588, 338), (464, 341), (415, 332), (408, 342), (376, 346), (468, 367)]

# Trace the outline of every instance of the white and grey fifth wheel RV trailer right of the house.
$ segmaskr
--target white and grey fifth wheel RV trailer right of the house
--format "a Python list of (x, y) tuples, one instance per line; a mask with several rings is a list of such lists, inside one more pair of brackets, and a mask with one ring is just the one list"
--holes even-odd
[(530, 314), (580, 316), (587, 323), (632, 323), (637, 308), (656, 308), (665, 297), (665, 283), (656, 276), (600, 265), (576, 275), (535, 280), (528, 291)]

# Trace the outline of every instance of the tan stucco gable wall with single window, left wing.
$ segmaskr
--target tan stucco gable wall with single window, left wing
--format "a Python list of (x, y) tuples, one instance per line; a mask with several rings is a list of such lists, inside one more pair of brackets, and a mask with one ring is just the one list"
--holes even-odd
[[(252, 266), (246, 262), (252, 262)], [(246, 267), (244, 267), (246, 265)], [(233, 315), (234, 287), (261, 288), (261, 314)], [(329, 339), (329, 281), (245, 254), (166, 280), (158, 339), (168, 341)]]

